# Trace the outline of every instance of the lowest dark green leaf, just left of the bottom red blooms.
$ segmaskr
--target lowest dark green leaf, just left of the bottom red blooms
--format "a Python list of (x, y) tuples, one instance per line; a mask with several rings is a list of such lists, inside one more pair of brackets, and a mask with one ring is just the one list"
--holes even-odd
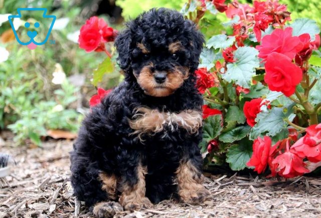
[(245, 138), (238, 145), (232, 145), (228, 149), (226, 162), (230, 164), (232, 170), (241, 170), (246, 167), (246, 163), (253, 153), (252, 143), (252, 141)]

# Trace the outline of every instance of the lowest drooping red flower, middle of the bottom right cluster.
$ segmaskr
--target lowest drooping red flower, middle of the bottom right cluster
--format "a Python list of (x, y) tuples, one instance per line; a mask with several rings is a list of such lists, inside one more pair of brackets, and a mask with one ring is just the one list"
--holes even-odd
[(276, 172), (285, 178), (293, 178), (303, 173), (309, 172), (306, 169), (303, 158), (291, 151), (285, 151), (283, 154), (278, 155), (272, 164), (277, 164)]

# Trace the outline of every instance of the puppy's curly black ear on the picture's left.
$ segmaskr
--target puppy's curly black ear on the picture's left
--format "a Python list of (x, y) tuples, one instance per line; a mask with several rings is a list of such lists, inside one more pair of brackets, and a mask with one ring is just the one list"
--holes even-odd
[(120, 69), (127, 71), (131, 63), (131, 34), (127, 28), (120, 32), (115, 40), (115, 47), (118, 52), (117, 62)]

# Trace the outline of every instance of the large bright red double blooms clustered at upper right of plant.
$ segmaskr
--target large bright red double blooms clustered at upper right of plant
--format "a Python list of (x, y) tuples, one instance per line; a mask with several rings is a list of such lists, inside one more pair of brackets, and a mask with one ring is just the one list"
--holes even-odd
[(256, 46), (258, 57), (265, 62), (264, 81), (271, 91), (282, 92), (287, 97), (294, 94), (302, 80), (302, 70), (306, 71), (302, 68), (304, 61), (311, 56), (314, 45), (319, 45), (319, 35), (315, 42), (311, 42), (309, 34), (296, 37), (292, 36), (292, 31), (291, 27), (275, 29), (263, 37), (261, 45)]

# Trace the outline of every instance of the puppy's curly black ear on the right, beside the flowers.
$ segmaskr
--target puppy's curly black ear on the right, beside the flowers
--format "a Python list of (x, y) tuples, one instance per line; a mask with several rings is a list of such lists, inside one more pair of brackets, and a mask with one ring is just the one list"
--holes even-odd
[(185, 20), (185, 27), (189, 33), (189, 40), (190, 40), (190, 69), (196, 70), (199, 65), (200, 55), (203, 49), (203, 44), (205, 43), (203, 34), (197, 30), (196, 25), (190, 21)]

